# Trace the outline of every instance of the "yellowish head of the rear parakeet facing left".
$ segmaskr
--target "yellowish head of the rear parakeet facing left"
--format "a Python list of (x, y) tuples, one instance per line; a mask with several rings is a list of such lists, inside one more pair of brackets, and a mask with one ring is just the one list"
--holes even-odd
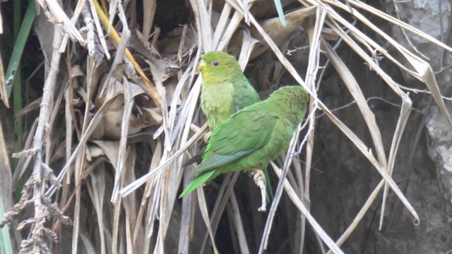
[(207, 83), (224, 82), (243, 75), (235, 57), (221, 51), (205, 54), (199, 62), (197, 70), (203, 75), (204, 82)]

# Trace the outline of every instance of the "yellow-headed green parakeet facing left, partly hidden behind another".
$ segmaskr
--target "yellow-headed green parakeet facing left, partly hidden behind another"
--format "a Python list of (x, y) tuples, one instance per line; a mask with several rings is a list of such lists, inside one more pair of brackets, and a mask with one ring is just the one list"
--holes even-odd
[(198, 71), (203, 75), (201, 109), (210, 131), (235, 112), (260, 101), (235, 57), (226, 52), (205, 54)]

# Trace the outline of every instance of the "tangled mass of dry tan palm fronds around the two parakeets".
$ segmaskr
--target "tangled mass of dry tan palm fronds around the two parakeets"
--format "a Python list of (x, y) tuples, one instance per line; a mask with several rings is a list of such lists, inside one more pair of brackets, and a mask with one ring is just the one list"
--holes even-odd
[[(177, 23), (173, 28), (165, 28), (169, 32), (154, 27), (160, 24), (158, 17), (162, 18), (158, 13), (160, 1), (143, 0), (143, 14), (137, 11), (141, 10), (141, 6), (136, 6), (139, 1), (125, 2), (109, 1), (107, 6), (107, 1), (103, 0), (100, 3), (97, 0), (73, 1), (75, 9), (69, 18), (63, 9), (71, 6), (62, 8), (56, 1), (38, 1), (45, 15), (54, 22), (54, 25), (49, 23), (54, 32), (54, 46), (52, 61), (47, 66), (50, 68), (40, 115), (29, 130), (26, 150), (17, 155), (20, 161), (13, 176), (16, 183), (20, 176), (31, 174), (23, 200), (15, 207), (22, 212), (27, 204), (34, 205), (33, 218), (23, 224), (33, 225), (30, 238), (23, 241), (23, 251), (49, 250), (44, 236), (54, 238), (54, 231), (65, 230), (61, 222), (66, 218), (59, 210), (73, 219), (73, 253), (84, 250), (196, 253), (207, 252), (210, 247), (213, 253), (222, 253), (221, 246), (225, 244), (218, 243), (217, 235), (225, 212), (233, 232), (231, 248), (241, 253), (253, 253), (256, 248), (258, 253), (263, 253), (275, 228), (278, 209), (297, 215), (295, 222), (285, 220), (288, 225), (297, 225), (296, 234), (288, 236), (290, 241), (295, 241), (293, 252), (306, 248), (308, 222), (323, 253), (326, 252), (324, 243), (332, 252), (343, 253), (340, 246), (383, 190), (381, 227), (390, 189), (415, 223), (419, 222), (415, 208), (392, 179), (412, 100), (406, 87), (379, 66), (379, 57), (385, 57), (401, 71), (421, 80), (451, 126), (452, 119), (431, 66), (371, 23), (369, 16), (381, 18), (452, 52), (446, 44), (355, 0), (345, 4), (336, 0), (283, 1), (283, 6), (291, 8), (285, 13), (286, 26), (273, 15), (275, 9), (258, 7), (273, 4), (273, 0), (213, 3), (190, 0), (185, 10), (191, 10), (193, 16), (184, 21), (183, 27), (177, 27)], [(264, 9), (271, 11), (259, 12)], [(143, 18), (137, 18), (139, 15)], [(76, 29), (79, 16), (83, 17), (85, 25), (80, 32)], [(350, 18), (381, 37), (391, 51), (362, 32), (362, 28), (358, 29)], [(139, 20), (142, 23), (137, 25)], [(309, 38), (307, 67), (303, 70), (295, 68), (288, 54), (283, 53), (294, 34), (306, 34)], [(68, 38), (73, 42), (67, 43)], [(383, 143), (381, 126), (369, 107), (363, 84), (359, 84), (355, 73), (336, 52), (338, 44), (355, 52), (401, 99), (397, 126), (389, 146)], [(49, 46), (42, 44), (42, 47)], [(188, 171), (182, 167), (184, 157), (196, 155), (198, 140), (202, 140), (207, 130), (197, 104), (201, 78), (196, 76), (196, 65), (201, 54), (211, 50), (235, 54), (242, 69), (253, 59), (258, 62), (261, 57), (271, 57), (266, 52), (272, 52), (277, 59), (272, 60), (274, 82), (279, 83), (281, 73), (287, 72), (311, 95), (309, 116), (300, 123), (283, 163), (280, 167), (271, 164), (279, 182), (266, 217), (254, 211), (257, 207), (246, 206), (246, 200), (253, 204), (256, 193), (244, 191), (244, 186), (234, 188), (236, 181), (243, 180), (239, 174), (225, 176), (218, 192), (204, 192), (199, 188), (196, 195), (188, 195), (182, 201), (177, 199), (181, 183), (184, 186), (189, 181), (184, 179)], [(62, 63), (60, 52), (64, 51), (66, 62)], [(110, 53), (113, 59), (109, 59)], [(322, 101), (319, 94), (326, 89), (321, 83), (323, 68), (330, 66), (354, 99), (371, 144), (366, 144), (352, 131), (353, 126), (347, 126), (333, 114), (335, 110)], [(304, 78), (302, 73), (305, 73)], [(62, 85), (58, 86), (57, 82)], [(274, 87), (265, 88), (262, 92)], [(357, 156), (367, 159), (382, 177), (336, 242), (310, 212), (314, 145), (316, 136), (321, 135), (316, 126), (318, 111), (323, 111), (357, 148), (360, 152)], [(306, 152), (301, 153), (302, 150)], [(304, 157), (304, 165), (295, 159), (297, 156)], [(53, 176), (51, 168), (57, 176)], [(51, 199), (59, 203), (59, 210), (50, 205)], [(46, 227), (48, 219), (54, 219), (53, 231)], [(250, 224), (254, 224), (254, 231)], [(52, 244), (54, 250), (68, 250), (66, 246)], [(275, 248), (283, 243), (272, 245), (271, 248)]]

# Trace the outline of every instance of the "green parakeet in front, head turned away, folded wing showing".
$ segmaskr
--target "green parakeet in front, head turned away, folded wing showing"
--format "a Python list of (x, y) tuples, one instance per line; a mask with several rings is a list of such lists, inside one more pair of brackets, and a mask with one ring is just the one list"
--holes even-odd
[[(257, 170), (262, 174), (270, 160), (287, 150), (306, 114), (307, 102), (309, 94), (301, 86), (282, 87), (268, 99), (237, 111), (220, 123), (210, 137), (203, 161), (193, 172), (196, 178), (180, 197), (226, 172)], [(261, 181), (258, 186), (262, 198), (258, 210), (265, 211), (265, 177), (257, 178)]]

